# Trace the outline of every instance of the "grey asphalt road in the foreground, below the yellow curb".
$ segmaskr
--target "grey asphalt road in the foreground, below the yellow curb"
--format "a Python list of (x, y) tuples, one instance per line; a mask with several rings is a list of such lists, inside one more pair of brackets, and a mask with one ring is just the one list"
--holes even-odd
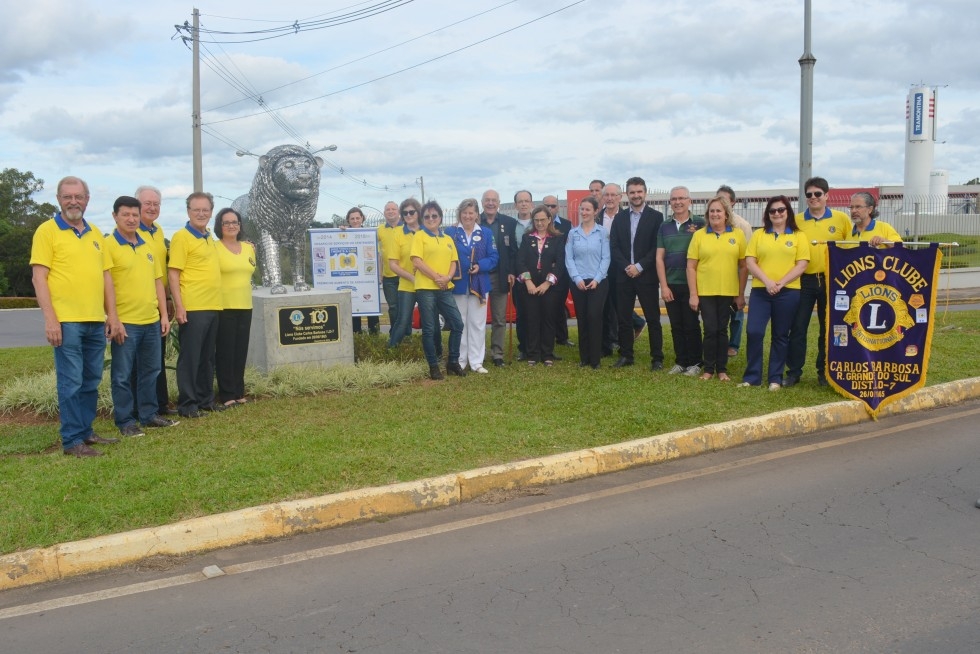
[[(971, 402), (7, 591), (0, 643), (46, 654), (975, 654), (978, 418)], [(225, 575), (205, 579), (212, 565)]]

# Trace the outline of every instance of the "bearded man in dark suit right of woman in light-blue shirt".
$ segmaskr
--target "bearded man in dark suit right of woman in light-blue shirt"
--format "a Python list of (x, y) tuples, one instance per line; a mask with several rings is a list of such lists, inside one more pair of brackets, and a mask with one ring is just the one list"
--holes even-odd
[(613, 221), (609, 235), (612, 265), (616, 275), (619, 311), (619, 360), (614, 368), (633, 365), (633, 305), (637, 299), (647, 318), (650, 338), (650, 369), (664, 366), (664, 336), (660, 325), (660, 296), (657, 282), (657, 232), (664, 215), (647, 206), (647, 185), (640, 177), (626, 182), (629, 207)]

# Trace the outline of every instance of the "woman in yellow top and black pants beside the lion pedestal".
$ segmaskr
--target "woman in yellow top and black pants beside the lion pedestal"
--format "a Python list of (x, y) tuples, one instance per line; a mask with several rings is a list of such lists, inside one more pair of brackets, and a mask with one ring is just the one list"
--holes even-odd
[(242, 217), (234, 209), (222, 209), (214, 219), (215, 248), (221, 267), (221, 311), (214, 366), (218, 378), (218, 403), (226, 407), (244, 404), (245, 358), (252, 327), (252, 273), (255, 248), (242, 240)]

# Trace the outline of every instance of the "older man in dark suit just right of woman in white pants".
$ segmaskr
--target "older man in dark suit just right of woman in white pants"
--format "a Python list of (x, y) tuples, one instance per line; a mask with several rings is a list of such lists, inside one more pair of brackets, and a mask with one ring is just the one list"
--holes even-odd
[(483, 213), (480, 214), (480, 224), (493, 232), (493, 240), (497, 245), (500, 261), (496, 270), (490, 271), (490, 357), (493, 365), (504, 365), (504, 335), (507, 331), (507, 294), (514, 285), (517, 273), (517, 248), (520, 239), (517, 238), (517, 221), (502, 213), (500, 194), (493, 189), (483, 194), (480, 202)]

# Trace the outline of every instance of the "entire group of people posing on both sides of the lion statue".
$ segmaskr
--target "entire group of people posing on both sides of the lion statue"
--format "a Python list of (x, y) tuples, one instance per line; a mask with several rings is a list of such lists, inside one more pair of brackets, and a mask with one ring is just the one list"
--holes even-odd
[[(785, 196), (770, 198), (763, 226), (754, 231), (734, 213), (735, 192), (728, 186), (708, 202), (704, 218), (692, 214), (688, 189), (675, 187), (665, 219), (647, 205), (640, 177), (626, 182), (625, 208), (618, 185), (593, 180), (574, 227), (559, 215), (557, 197), (545, 196), (535, 205), (527, 190), (514, 195), (516, 217), (499, 212), (500, 196), (491, 189), (480, 202), (463, 200), (458, 224), (449, 227), (443, 226), (438, 202), (388, 202), (378, 227), (388, 345), (395, 347), (411, 334), (418, 305), (430, 377), (443, 379), (440, 316), (449, 331), (446, 374), (463, 376), (467, 368), (486, 374), (487, 304), (492, 365), (503, 366), (512, 303), (518, 360), (549, 367), (559, 359), (556, 344), (574, 345), (565, 316), (571, 291), (581, 367), (599, 368), (601, 358), (615, 350), (613, 367), (634, 365), (634, 343), (646, 326), (650, 368), (662, 370), (663, 300), (674, 349), (668, 374), (728, 381), (727, 362), (738, 353), (745, 323), (741, 385), (792, 386), (803, 374), (814, 306), (820, 333), (826, 329), (826, 243), (888, 247), (901, 242), (877, 219), (871, 194), (854, 194), (848, 217), (827, 207), (825, 179), (814, 177), (804, 188), (806, 210), (795, 214)], [(198, 418), (245, 403), (256, 257), (242, 239), (241, 215), (221, 209), (212, 231), (213, 198), (191, 193), (187, 223), (173, 235), (168, 252), (155, 224), (161, 194), (151, 186), (115, 201), (116, 227), (105, 235), (84, 217), (89, 189), (83, 180), (62, 179), (57, 201), (58, 213), (34, 235), (30, 263), (45, 335), (54, 346), (65, 454), (98, 456), (92, 445), (118, 442), (92, 427), (106, 339), (112, 352), (113, 418), (122, 435), (176, 425), (168, 416)], [(362, 227), (363, 212), (352, 208), (346, 222)], [(649, 321), (634, 311), (637, 302)], [(180, 343), (176, 408), (169, 406), (164, 369), (171, 317)], [(359, 318), (352, 327), (359, 331)], [(368, 319), (368, 328), (380, 331), (377, 317)], [(771, 342), (763, 376), (767, 329)], [(826, 384), (825, 358), (825, 339), (819, 338), (820, 384)]]

